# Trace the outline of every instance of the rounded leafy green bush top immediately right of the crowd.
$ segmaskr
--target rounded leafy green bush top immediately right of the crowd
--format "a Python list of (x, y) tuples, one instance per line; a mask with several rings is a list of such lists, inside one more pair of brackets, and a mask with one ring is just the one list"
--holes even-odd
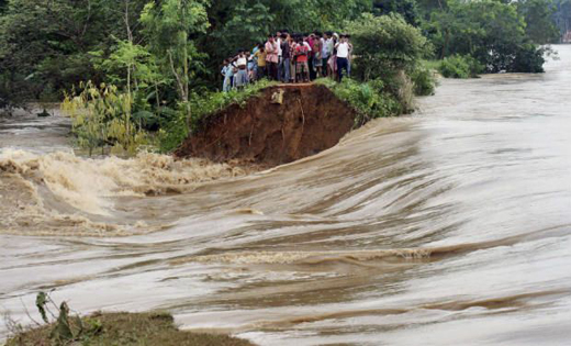
[(430, 45), (421, 31), (396, 14), (373, 16), (363, 14), (349, 22), (355, 46), (356, 65), (351, 74), (368, 81), (387, 78), (401, 70), (412, 72), (421, 58), (430, 52)]

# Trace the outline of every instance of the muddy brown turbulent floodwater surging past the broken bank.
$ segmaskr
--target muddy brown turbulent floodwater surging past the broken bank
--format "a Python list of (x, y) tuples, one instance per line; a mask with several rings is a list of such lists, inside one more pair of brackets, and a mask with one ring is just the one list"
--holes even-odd
[(571, 47), (557, 49), (545, 75), (445, 80), (413, 116), (249, 176), (80, 158), (65, 120), (3, 119), (0, 310), (26, 322), (55, 289), (77, 311), (163, 309), (260, 345), (569, 344)]

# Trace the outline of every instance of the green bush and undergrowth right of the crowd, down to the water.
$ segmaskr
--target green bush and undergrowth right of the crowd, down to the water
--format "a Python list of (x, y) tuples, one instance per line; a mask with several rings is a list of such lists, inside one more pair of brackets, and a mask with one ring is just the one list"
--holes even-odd
[(359, 56), (352, 66), (354, 79), (317, 82), (358, 111), (356, 126), (376, 118), (410, 113), (414, 94), (434, 91), (432, 72), (419, 64), (430, 46), (402, 16), (367, 13), (348, 22), (345, 30), (351, 33), (355, 55)]

